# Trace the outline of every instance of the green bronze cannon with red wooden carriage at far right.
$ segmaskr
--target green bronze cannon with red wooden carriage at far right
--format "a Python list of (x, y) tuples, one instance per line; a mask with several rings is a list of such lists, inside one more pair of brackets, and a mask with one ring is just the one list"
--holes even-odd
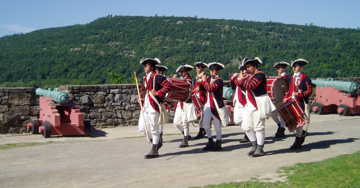
[(360, 113), (359, 87), (356, 82), (312, 80), (316, 102), (311, 105), (314, 114), (337, 112), (339, 116)]

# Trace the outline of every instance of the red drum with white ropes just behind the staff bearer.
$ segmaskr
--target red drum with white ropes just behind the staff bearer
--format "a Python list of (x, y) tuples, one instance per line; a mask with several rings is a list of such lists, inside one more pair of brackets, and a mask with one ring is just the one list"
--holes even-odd
[(186, 102), (192, 94), (192, 81), (180, 78), (166, 78), (172, 85), (172, 90), (166, 94), (165, 101)]

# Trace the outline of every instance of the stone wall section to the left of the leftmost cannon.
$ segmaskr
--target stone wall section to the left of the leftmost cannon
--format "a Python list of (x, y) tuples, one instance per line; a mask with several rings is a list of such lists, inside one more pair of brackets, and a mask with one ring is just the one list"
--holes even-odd
[(0, 88), (0, 133), (26, 132), (30, 117), (39, 114), (35, 88)]

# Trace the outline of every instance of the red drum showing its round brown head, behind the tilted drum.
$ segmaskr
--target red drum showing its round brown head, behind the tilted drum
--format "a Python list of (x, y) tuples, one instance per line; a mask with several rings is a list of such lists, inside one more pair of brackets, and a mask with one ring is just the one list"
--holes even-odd
[(283, 102), (285, 93), (289, 91), (289, 83), (283, 77), (266, 77), (267, 94), (273, 103)]

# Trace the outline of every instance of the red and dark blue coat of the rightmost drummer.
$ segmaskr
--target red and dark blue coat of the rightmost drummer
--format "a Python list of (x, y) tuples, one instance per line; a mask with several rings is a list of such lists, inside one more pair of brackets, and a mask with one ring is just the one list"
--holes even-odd
[[(309, 76), (301, 73), (301, 76), (300, 76), (300, 84), (298, 86), (298, 89), (296, 91), (295, 90), (295, 76), (291, 76), (291, 81), (289, 82), (290, 83), (290, 86), (289, 86), (289, 92), (287, 95), (285, 95), (284, 99), (285, 98), (289, 98), (293, 92), (298, 92), (301, 90), (301, 92), (299, 93), (299, 98), (295, 98), (296, 102), (300, 105), (300, 107), (304, 110), (305, 109), (305, 103), (309, 103), (309, 97), (312, 93), (312, 86), (311, 86), (311, 79), (309, 78)], [(303, 99), (303, 100), (302, 100)], [(287, 101), (291, 100), (288, 99)], [(304, 103), (304, 100), (305, 100), (305, 103)]]

